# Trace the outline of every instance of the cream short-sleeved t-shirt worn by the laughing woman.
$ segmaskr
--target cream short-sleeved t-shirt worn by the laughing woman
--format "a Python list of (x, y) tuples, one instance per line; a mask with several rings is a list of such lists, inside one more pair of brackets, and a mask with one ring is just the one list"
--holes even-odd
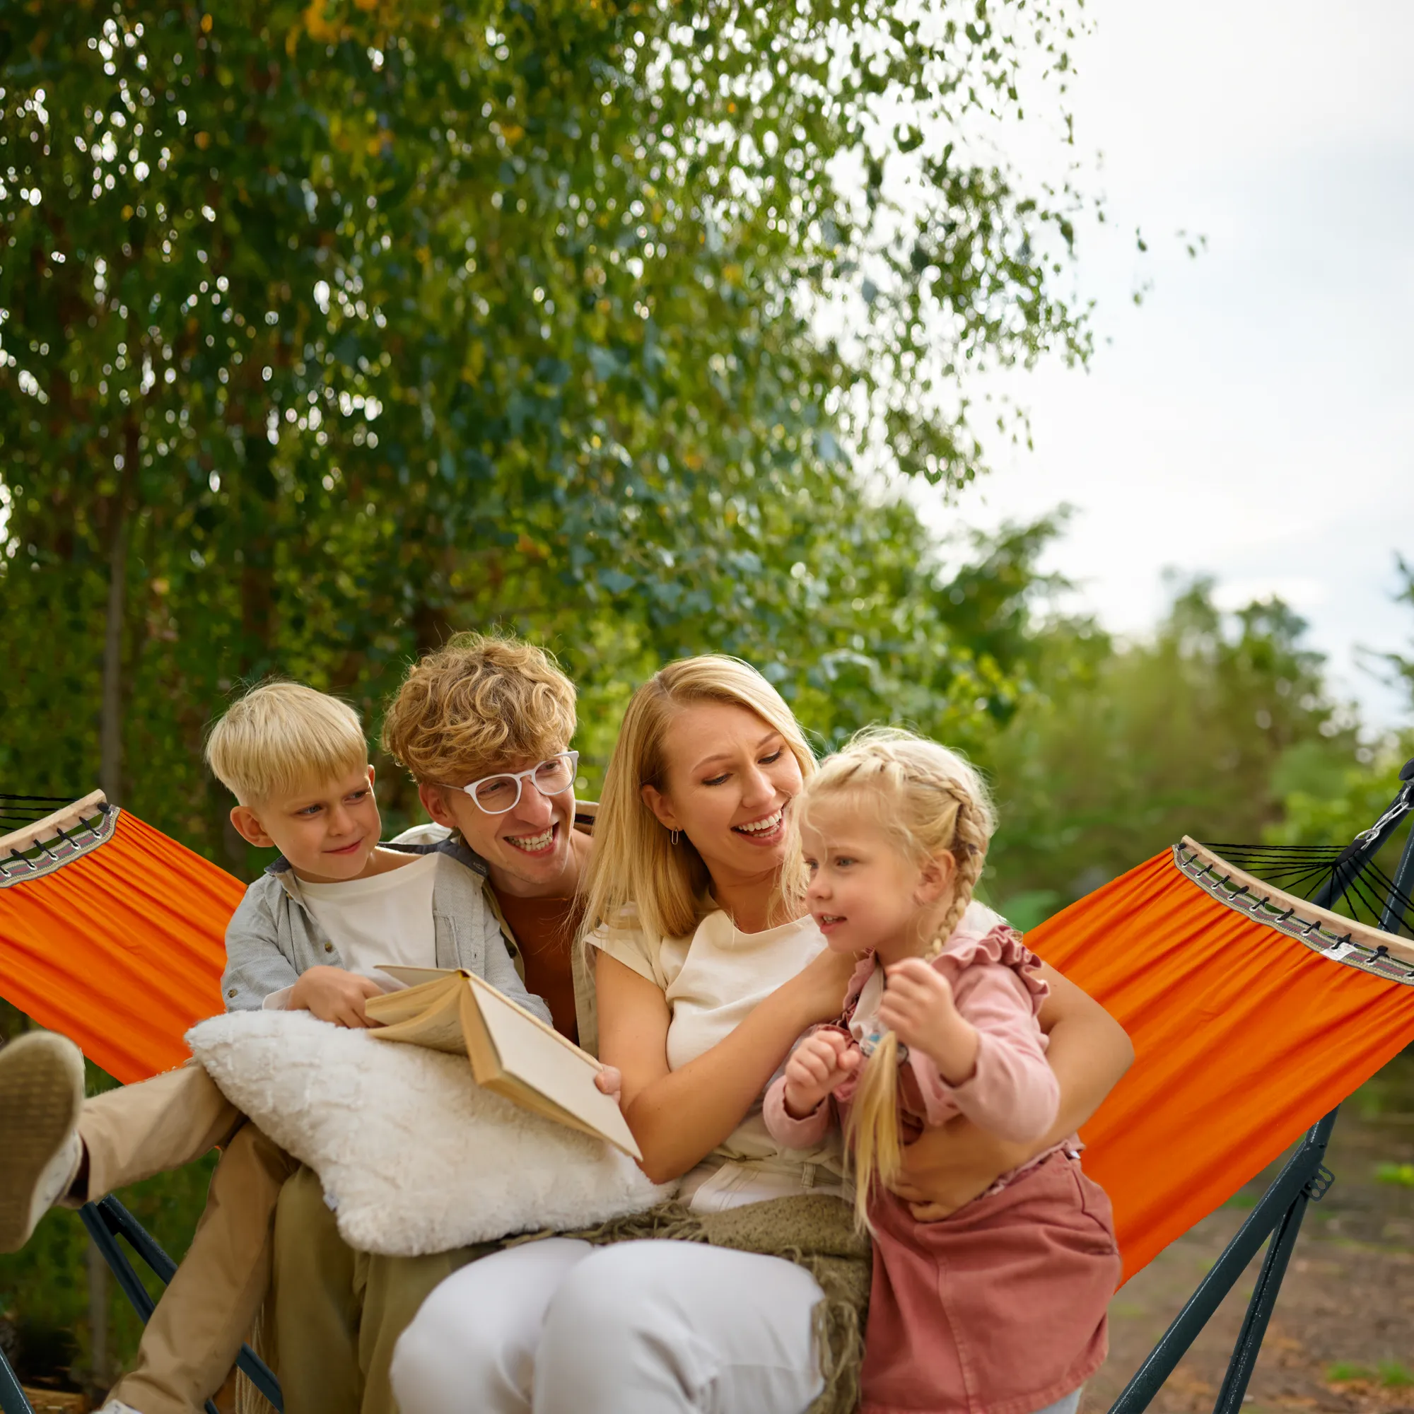
[[(751, 1011), (824, 947), (814, 919), (741, 933), (725, 912), (708, 913), (689, 937), (650, 940), (600, 928), (588, 942), (658, 986), (667, 1000), (667, 1066), (679, 1070), (735, 1031)], [(700, 1212), (817, 1192), (844, 1196), (844, 1158), (831, 1130), (813, 1150), (785, 1150), (766, 1131), (761, 1099), (701, 1164), (679, 1196)]]

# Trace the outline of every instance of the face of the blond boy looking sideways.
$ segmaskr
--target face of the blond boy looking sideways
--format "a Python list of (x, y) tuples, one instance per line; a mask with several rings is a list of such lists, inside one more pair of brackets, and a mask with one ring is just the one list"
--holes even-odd
[(382, 822), (373, 799), (373, 768), (361, 766), (334, 781), (238, 805), (230, 823), (260, 848), (277, 848), (296, 877), (310, 884), (344, 884), (368, 867)]

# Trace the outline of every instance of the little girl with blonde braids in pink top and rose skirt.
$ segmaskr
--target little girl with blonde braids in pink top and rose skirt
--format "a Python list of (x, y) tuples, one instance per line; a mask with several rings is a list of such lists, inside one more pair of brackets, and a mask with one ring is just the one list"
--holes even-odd
[(1027, 1143), (1056, 1116), (1038, 960), (973, 901), (993, 814), (977, 773), (868, 731), (793, 806), (797, 878), (831, 949), (860, 954), (839, 1022), (766, 1093), (772, 1135), (810, 1148), (844, 1121), (874, 1233), (863, 1414), (1073, 1414), (1106, 1353), (1120, 1277), (1110, 1203), (1072, 1135), (939, 1222), (888, 1191), (901, 1145), (956, 1114)]

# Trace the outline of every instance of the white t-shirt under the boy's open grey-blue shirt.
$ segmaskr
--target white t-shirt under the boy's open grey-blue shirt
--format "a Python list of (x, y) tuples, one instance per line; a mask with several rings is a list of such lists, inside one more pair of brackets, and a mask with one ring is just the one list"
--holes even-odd
[[(433, 885), (440, 857), (424, 854), (385, 874), (342, 884), (300, 880), (300, 896), (349, 971), (393, 987), (393, 980), (378, 971), (380, 963), (437, 966)], [(283, 1011), (293, 990), (271, 993), (264, 1000), (266, 1010)]]

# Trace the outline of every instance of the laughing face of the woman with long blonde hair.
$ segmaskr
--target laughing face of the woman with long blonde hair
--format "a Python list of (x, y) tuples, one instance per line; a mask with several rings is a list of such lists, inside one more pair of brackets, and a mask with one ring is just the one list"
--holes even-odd
[(786, 806), (803, 785), (781, 732), (735, 703), (691, 703), (669, 723), (663, 751), (665, 789), (643, 786), (643, 800), (691, 840), (713, 878), (779, 870)]

